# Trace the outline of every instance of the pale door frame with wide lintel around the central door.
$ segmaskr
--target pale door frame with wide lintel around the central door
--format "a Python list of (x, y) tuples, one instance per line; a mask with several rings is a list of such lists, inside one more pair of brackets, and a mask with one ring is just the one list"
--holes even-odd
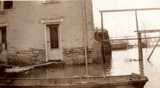
[[(48, 40), (47, 40), (47, 25), (48, 24), (59, 24), (59, 26), (62, 24), (63, 18), (58, 19), (43, 19), (41, 20), (41, 23), (43, 23), (43, 30), (44, 30), (44, 47), (45, 47), (45, 62), (49, 61), (49, 47), (48, 47)], [(58, 29), (58, 40), (59, 40), (59, 49), (61, 49), (61, 53), (63, 53), (62, 49), (62, 34), (61, 34), (61, 28)], [(62, 60), (63, 60), (63, 54), (62, 54)]]

